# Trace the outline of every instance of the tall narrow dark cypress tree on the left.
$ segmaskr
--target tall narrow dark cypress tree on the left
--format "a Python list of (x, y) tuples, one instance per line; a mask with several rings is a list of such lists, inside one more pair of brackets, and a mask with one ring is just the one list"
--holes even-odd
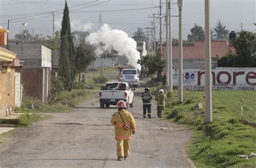
[(59, 76), (64, 82), (65, 90), (71, 91), (75, 81), (75, 50), (71, 36), (69, 8), (65, 1), (62, 30), (60, 31)]

